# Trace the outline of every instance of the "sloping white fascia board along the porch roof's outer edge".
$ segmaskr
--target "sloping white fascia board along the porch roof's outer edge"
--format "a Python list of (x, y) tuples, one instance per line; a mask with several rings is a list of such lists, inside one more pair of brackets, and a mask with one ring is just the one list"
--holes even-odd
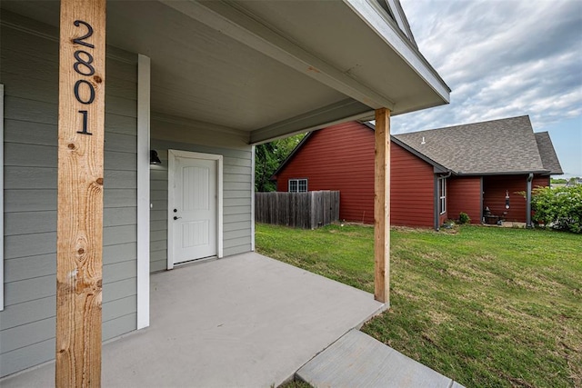
[(420, 53), (413, 47), (411, 42), (408, 42), (406, 36), (397, 31), (397, 25), (393, 25), (386, 20), (386, 15), (380, 7), (373, 0), (344, 0), (346, 5), (359, 15), (366, 25), (376, 32), (387, 45), (400, 55), (400, 57), (408, 64), (417, 75), (422, 77), (428, 85), (440, 95), (443, 101), (447, 103), (450, 101), (450, 88), (437, 74), (437, 71), (420, 55)]

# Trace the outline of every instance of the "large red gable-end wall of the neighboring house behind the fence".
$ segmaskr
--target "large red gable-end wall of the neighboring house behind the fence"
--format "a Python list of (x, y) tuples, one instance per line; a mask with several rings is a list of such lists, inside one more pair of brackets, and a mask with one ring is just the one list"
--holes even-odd
[[(433, 166), (395, 143), (390, 159), (390, 223), (433, 227)], [(276, 174), (277, 191), (288, 191), (289, 179), (307, 179), (309, 191), (338, 190), (340, 219), (374, 224), (374, 131), (351, 122), (313, 132)]]

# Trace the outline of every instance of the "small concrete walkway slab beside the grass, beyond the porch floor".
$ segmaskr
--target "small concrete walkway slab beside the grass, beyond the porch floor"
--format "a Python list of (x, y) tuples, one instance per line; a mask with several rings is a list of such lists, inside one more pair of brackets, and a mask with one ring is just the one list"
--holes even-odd
[(357, 330), (346, 333), (296, 374), (315, 387), (462, 387)]

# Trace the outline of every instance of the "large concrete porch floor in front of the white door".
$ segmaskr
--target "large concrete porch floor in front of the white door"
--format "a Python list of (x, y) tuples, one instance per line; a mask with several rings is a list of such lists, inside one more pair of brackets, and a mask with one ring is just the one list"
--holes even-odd
[[(104, 387), (268, 387), (384, 308), (370, 293), (260, 254), (151, 277), (151, 326), (106, 343)], [(1, 382), (52, 386), (48, 363)]]

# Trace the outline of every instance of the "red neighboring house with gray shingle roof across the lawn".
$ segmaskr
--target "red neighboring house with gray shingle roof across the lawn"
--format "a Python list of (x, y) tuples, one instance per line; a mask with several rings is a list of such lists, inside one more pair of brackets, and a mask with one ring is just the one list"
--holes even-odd
[[(488, 207), (527, 222), (522, 193), (562, 174), (547, 132), (528, 116), (391, 136), (390, 222), (434, 227), (465, 212), (480, 223)], [(374, 222), (374, 126), (350, 122), (308, 134), (281, 164), (277, 191), (340, 191), (340, 218)], [(506, 194), (508, 205), (506, 208)]]

